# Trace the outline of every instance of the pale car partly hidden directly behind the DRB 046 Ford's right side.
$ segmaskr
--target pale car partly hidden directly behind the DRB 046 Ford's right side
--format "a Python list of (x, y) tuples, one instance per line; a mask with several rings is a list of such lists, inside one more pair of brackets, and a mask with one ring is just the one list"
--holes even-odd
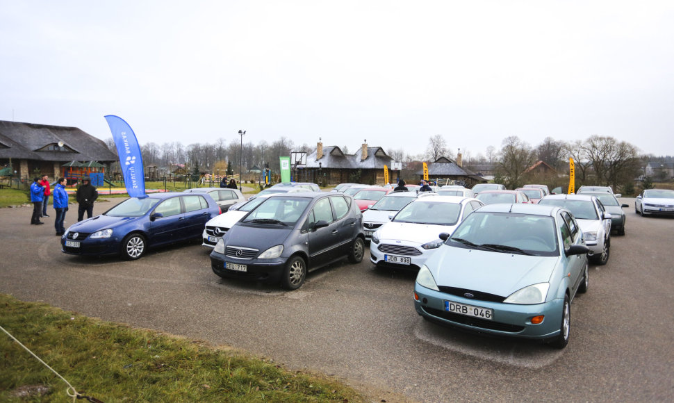
[(599, 199), (591, 195), (549, 195), (539, 204), (562, 206), (573, 214), (583, 232), (590, 252), (587, 256), (598, 265), (609, 261), (611, 250), (611, 214)]

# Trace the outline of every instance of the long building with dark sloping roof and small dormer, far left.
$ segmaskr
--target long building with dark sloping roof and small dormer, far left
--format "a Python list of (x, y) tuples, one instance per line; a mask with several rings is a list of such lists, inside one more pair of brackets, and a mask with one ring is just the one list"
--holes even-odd
[(28, 181), (38, 174), (65, 176), (76, 161), (92, 170), (117, 156), (103, 140), (76, 127), (0, 120), (0, 165), (13, 176)]

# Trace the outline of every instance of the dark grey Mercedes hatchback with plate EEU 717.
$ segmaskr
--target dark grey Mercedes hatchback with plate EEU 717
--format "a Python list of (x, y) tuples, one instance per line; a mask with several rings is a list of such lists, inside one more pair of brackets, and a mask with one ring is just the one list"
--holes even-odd
[(349, 195), (297, 192), (272, 195), (217, 242), (211, 268), (295, 290), (306, 273), (343, 258), (363, 260), (363, 216)]

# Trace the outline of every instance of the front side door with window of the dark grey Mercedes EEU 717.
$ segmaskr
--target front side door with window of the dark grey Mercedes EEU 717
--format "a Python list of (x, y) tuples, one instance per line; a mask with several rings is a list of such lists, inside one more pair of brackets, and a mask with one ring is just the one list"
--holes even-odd
[[(339, 244), (339, 230), (328, 197), (315, 202), (307, 221), (309, 265), (317, 266), (331, 261), (336, 255), (336, 246)], [(327, 226), (315, 228), (318, 222), (325, 222)]]

